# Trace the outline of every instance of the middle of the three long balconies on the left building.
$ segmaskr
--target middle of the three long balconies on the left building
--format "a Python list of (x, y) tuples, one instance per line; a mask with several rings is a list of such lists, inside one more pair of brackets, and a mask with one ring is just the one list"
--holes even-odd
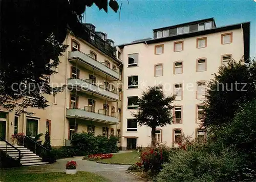
[[(107, 99), (110, 102), (119, 101), (119, 93), (116, 89), (105, 88), (105, 85), (97, 85), (92, 79), (82, 80), (77, 78), (68, 79), (68, 88), (75, 87), (83, 93), (94, 93), (100, 99)], [(80, 89), (81, 88), (81, 89)]]

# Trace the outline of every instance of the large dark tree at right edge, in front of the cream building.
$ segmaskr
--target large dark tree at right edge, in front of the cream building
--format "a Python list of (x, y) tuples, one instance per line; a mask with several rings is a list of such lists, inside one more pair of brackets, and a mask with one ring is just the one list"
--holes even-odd
[(204, 108), (203, 126), (223, 126), (232, 122), (241, 104), (256, 97), (256, 63), (244, 64), (230, 60), (221, 66), (218, 74), (208, 83)]

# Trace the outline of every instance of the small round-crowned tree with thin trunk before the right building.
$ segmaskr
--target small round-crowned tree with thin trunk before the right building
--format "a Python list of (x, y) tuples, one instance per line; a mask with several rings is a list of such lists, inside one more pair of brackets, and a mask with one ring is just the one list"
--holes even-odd
[(175, 95), (165, 97), (164, 93), (156, 87), (148, 87), (138, 98), (138, 112), (133, 113), (140, 126), (151, 127), (151, 145), (156, 146), (156, 127), (166, 126), (173, 121), (171, 105)]

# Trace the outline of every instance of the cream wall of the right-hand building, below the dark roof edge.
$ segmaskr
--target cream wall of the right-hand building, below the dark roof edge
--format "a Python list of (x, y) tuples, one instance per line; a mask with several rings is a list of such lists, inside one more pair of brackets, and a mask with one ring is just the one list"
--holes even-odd
[[(199, 82), (207, 82), (213, 78), (212, 74), (217, 73), (222, 64), (222, 57), (230, 55), (234, 60), (240, 60), (244, 56), (244, 30), (236, 28), (226, 31), (216, 31), (203, 33), (202, 35), (191, 35), (184, 38), (157, 38), (119, 45), (118, 51), (123, 60), (123, 117), (122, 117), (122, 149), (131, 149), (136, 146), (146, 147), (151, 144), (151, 128), (146, 126), (137, 126), (131, 131), (127, 129), (127, 120), (133, 119), (132, 112), (137, 109), (129, 109), (128, 98), (141, 96), (143, 90), (148, 86), (162, 85), (166, 96), (175, 93), (175, 84), (182, 85), (182, 95), (180, 100), (174, 102), (174, 106), (181, 108), (181, 119), (177, 123), (172, 123), (166, 127), (157, 128), (160, 134), (157, 134), (157, 140), (170, 147), (175, 147), (175, 135), (181, 131), (184, 135), (197, 137), (197, 129), (200, 127), (198, 118), (198, 105), (202, 105), (204, 97), (198, 97)], [(231, 34), (231, 43), (222, 44), (223, 35)], [(200, 34), (200, 33), (198, 33)], [(178, 36), (177, 36), (178, 37)], [(197, 39), (206, 37), (204, 48), (197, 48)], [(154, 43), (157, 41), (157, 43)], [(183, 41), (182, 51), (175, 52), (175, 42)], [(162, 54), (156, 54), (156, 48), (163, 47)], [(119, 54), (120, 54), (119, 53)], [(138, 65), (129, 67), (129, 56), (138, 53)], [(197, 61), (205, 60), (206, 70), (197, 70)], [(175, 74), (175, 63), (182, 63), (182, 73)], [(156, 65), (163, 66), (162, 76), (155, 76)], [(158, 67), (159, 68), (159, 67)], [(157, 68), (157, 69), (158, 69)], [(161, 70), (161, 68), (160, 68)], [(161, 72), (161, 71), (160, 71)], [(160, 74), (161, 75), (161, 74)], [(129, 88), (129, 76), (138, 76), (138, 88)], [(201, 92), (200, 92), (201, 93)], [(131, 104), (131, 103), (130, 103)], [(135, 104), (136, 105), (136, 104)], [(200, 108), (199, 108), (200, 109)], [(175, 111), (173, 112), (173, 114)], [(174, 115), (174, 118), (176, 116)], [(202, 132), (201, 132), (202, 134)], [(204, 133), (203, 133), (204, 134)], [(136, 144), (134, 144), (136, 142)], [(129, 144), (128, 144), (129, 143)], [(133, 143), (133, 144), (132, 144)]]

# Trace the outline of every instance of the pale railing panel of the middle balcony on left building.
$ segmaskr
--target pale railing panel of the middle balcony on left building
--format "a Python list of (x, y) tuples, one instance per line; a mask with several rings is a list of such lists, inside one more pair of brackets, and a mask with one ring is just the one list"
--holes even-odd
[(92, 79), (82, 80), (78, 78), (69, 78), (68, 87), (69, 86), (79, 86), (80, 88), (89, 90), (90, 92), (99, 94), (104, 97), (111, 98), (115, 101), (119, 100), (119, 92), (117, 92), (116, 89), (110, 89), (111, 84), (109, 84), (109, 87), (106, 88), (105, 86), (96, 84)]

